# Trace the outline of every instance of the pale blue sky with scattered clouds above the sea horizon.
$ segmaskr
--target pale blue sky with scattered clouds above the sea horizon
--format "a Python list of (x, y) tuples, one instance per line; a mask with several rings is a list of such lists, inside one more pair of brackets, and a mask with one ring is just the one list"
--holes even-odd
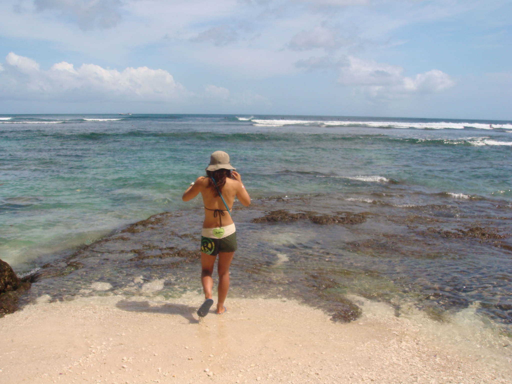
[(2, 0), (0, 114), (512, 120), (511, 0)]

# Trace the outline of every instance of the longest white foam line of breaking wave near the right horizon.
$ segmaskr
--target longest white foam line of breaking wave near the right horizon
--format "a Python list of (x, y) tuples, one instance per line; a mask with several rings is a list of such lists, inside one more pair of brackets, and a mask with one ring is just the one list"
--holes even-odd
[(466, 127), (490, 130), (512, 129), (512, 124), (493, 125), (470, 122), (402, 122), (402, 121), (357, 121), (357, 120), (261, 120), (253, 119), (256, 126), (319, 125), (319, 126), (367, 126), (372, 128), (416, 128), (416, 129), (464, 129)]

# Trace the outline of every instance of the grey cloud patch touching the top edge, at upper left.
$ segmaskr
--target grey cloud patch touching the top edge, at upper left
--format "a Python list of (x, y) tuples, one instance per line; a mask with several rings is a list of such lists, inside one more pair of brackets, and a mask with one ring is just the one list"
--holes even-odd
[(35, 10), (57, 11), (72, 17), (82, 30), (111, 28), (121, 21), (119, 0), (34, 0)]

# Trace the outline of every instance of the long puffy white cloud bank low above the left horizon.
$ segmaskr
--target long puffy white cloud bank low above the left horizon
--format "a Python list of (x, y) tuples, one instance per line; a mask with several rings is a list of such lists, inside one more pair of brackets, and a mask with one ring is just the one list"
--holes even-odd
[(73, 64), (61, 61), (49, 70), (24, 56), (10, 52), (0, 65), (0, 99), (49, 101), (113, 101), (216, 105), (268, 104), (268, 100), (251, 91), (230, 98), (224, 87), (204, 86), (202, 93), (185, 89), (172, 75), (162, 69), (105, 69), (94, 64)]

